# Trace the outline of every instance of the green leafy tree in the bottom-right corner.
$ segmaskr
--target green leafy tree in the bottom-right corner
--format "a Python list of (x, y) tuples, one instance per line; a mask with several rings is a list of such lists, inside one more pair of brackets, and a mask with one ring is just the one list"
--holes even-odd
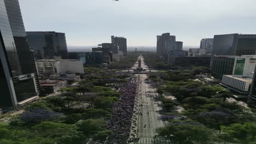
[(256, 124), (255, 123), (235, 123), (230, 126), (222, 126), (223, 139), (230, 142), (248, 144), (255, 142)]

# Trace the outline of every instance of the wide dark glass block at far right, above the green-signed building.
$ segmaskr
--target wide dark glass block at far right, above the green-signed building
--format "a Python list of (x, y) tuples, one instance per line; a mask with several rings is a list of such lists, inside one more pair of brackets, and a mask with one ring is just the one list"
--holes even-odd
[(255, 55), (256, 34), (214, 35), (212, 55)]

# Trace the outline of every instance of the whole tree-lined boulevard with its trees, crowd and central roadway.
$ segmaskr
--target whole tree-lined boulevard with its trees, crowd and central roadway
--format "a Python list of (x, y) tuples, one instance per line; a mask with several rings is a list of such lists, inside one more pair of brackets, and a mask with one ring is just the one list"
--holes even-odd
[[(159, 70), (155, 54), (141, 54), (130, 53), (125, 69), (85, 67), (75, 85), (1, 115), (0, 144), (255, 143), (255, 110), (195, 79), (209, 68)], [(147, 73), (136, 71), (139, 59)]]

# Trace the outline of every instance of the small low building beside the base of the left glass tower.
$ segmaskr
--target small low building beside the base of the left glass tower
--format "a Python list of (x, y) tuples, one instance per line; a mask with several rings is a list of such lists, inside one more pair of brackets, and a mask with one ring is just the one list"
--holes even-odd
[(60, 88), (67, 86), (67, 81), (44, 80), (39, 82), (40, 82), (40, 88), (44, 89), (44, 93), (46, 94), (55, 93)]

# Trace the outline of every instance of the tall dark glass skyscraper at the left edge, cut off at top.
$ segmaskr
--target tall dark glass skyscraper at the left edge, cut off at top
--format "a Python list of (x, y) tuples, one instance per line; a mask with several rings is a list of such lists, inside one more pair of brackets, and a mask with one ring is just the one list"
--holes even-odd
[(0, 0), (0, 106), (22, 105), (37, 98), (33, 58), (18, 0)]

